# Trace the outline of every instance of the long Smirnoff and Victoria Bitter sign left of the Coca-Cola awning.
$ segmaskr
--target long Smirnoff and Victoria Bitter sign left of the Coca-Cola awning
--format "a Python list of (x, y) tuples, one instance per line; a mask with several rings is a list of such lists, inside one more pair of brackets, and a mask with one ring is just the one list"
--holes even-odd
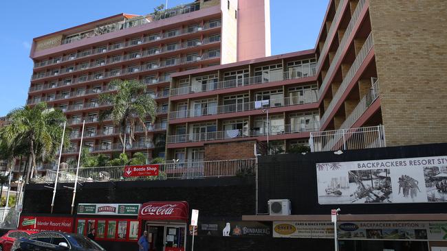
[(78, 215), (138, 215), (140, 204), (78, 204)]

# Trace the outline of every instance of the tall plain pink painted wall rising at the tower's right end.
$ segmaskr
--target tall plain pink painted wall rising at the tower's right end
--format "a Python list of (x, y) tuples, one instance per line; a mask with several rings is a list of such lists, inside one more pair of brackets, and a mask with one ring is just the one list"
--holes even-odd
[(239, 1), (237, 61), (270, 56), (270, 0)]

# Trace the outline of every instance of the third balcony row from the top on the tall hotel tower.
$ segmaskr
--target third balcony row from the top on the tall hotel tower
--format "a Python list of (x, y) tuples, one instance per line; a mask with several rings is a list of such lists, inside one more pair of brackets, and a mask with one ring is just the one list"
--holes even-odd
[(98, 80), (109, 80), (111, 78), (116, 78), (116, 77), (121, 77), (123, 75), (131, 75), (134, 73), (145, 73), (145, 72), (149, 72), (149, 71), (155, 71), (161, 68), (167, 68), (167, 67), (175, 67), (181, 64), (189, 64), (189, 63), (193, 63), (193, 62), (199, 62), (202, 60), (210, 60), (210, 59), (214, 59), (214, 58), (219, 58), (220, 57), (220, 53), (215, 53), (212, 56), (209, 56), (207, 53), (199, 56), (193, 60), (188, 60), (188, 57), (184, 57), (184, 58), (176, 58), (175, 60), (171, 61), (162, 61), (159, 62), (158, 64), (155, 65), (151, 65), (149, 67), (149, 65), (140, 65), (137, 67), (127, 67), (127, 69), (122, 69), (120, 71), (117, 72), (113, 72), (113, 71), (108, 71), (103, 73), (103, 75), (100, 75), (100, 77), (95, 76), (95, 75), (84, 75), (81, 77), (76, 77), (74, 78), (74, 80), (70, 80), (69, 82), (64, 81), (59, 81), (59, 82), (53, 82), (50, 84), (45, 84), (43, 86), (32, 86), (30, 87), (30, 93), (34, 92), (34, 91), (42, 91), (42, 90), (46, 90), (46, 89), (51, 89), (51, 88), (58, 88), (61, 86), (73, 86), (74, 84), (80, 84), (80, 83), (86, 83), (86, 82), (90, 82), (90, 81), (98, 81)]

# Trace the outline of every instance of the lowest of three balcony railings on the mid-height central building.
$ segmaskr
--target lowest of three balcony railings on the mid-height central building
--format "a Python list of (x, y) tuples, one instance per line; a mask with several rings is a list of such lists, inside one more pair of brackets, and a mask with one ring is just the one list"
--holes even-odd
[(179, 134), (166, 136), (166, 143), (186, 143), (197, 141), (216, 141), (222, 139), (239, 139), (254, 136), (280, 135), (299, 132), (313, 132), (318, 130), (319, 123), (296, 124), (296, 125), (274, 125), (270, 126), (270, 132), (267, 133), (263, 128), (254, 129), (235, 129), (216, 132), (200, 132), (191, 134)]

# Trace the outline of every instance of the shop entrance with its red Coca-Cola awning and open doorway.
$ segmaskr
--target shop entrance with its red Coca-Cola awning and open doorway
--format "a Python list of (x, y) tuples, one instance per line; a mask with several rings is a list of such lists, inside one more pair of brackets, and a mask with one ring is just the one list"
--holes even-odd
[(188, 202), (147, 202), (138, 213), (139, 236), (148, 232), (149, 250), (184, 251)]

